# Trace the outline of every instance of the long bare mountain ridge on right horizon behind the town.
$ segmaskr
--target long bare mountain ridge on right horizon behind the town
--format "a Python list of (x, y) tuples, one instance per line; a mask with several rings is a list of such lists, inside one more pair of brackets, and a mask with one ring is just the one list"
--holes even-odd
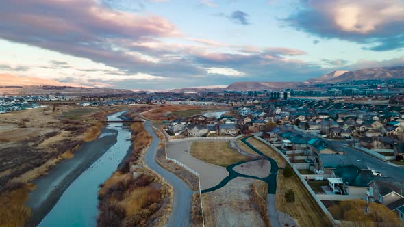
[(236, 82), (231, 83), (224, 90), (278, 90), (281, 88), (295, 88), (298, 85), (315, 85), (318, 83), (339, 83), (353, 80), (367, 79), (404, 79), (404, 66), (386, 68), (365, 68), (357, 71), (337, 70), (320, 77), (307, 79), (303, 82)]

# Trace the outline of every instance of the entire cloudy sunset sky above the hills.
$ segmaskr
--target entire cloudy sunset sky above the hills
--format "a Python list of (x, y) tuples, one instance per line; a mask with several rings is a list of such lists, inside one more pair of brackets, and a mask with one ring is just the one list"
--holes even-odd
[(404, 66), (404, 0), (0, 1), (0, 73), (132, 90)]

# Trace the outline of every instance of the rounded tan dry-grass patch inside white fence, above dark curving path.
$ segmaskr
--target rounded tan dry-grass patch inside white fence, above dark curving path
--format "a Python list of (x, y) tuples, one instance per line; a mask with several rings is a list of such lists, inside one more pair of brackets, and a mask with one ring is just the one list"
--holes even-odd
[(240, 155), (230, 148), (229, 142), (194, 142), (191, 155), (214, 165), (227, 167), (239, 161), (247, 161), (249, 157)]

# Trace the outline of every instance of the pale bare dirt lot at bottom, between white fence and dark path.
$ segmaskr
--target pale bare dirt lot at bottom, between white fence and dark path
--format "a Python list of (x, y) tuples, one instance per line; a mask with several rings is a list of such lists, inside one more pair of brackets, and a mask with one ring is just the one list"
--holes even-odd
[(235, 178), (225, 187), (204, 193), (205, 226), (264, 226), (249, 178)]

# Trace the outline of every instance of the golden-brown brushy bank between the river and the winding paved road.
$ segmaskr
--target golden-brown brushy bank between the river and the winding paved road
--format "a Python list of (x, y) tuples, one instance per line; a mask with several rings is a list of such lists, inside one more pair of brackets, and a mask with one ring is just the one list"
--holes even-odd
[(164, 226), (173, 189), (144, 165), (142, 157), (152, 140), (144, 124), (136, 122), (130, 128), (130, 154), (99, 189), (97, 226)]

